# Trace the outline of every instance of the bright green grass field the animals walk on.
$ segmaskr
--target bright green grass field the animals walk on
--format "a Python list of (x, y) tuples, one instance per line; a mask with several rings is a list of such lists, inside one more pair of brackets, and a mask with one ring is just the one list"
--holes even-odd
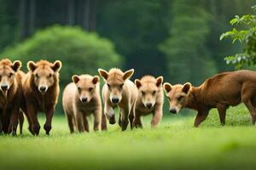
[(194, 112), (167, 115), (155, 129), (146, 117), (144, 129), (72, 135), (55, 116), (50, 136), (0, 136), (0, 169), (255, 169), (256, 127), (243, 105), (230, 108), (225, 127), (214, 110), (199, 128)]

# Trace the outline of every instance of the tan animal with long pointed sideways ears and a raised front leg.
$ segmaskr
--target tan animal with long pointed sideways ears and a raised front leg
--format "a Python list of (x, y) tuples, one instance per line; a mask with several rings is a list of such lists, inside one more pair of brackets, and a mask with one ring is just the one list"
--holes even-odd
[(104, 114), (107, 116), (110, 124), (115, 123), (113, 108), (119, 107), (119, 126), (122, 131), (128, 126), (128, 118), (131, 123), (134, 118), (133, 107), (137, 97), (137, 87), (129, 80), (134, 70), (120, 71), (111, 69), (110, 71), (98, 70), (104, 78), (105, 84), (102, 88), (102, 99), (104, 103)]

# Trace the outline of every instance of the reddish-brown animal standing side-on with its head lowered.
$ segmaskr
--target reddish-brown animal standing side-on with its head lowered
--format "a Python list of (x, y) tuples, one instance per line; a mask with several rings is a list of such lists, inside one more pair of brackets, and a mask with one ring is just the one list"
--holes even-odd
[(225, 124), (226, 110), (230, 105), (243, 102), (252, 116), (253, 125), (256, 121), (256, 72), (232, 71), (220, 73), (208, 78), (200, 87), (191, 87), (189, 82), (184, 85), (172, 86), (164, 84), (166, 96), (170, 101), (170, 111), (177, 113), (181, 108), (198, 111), (194, 126), (203, 122), (212, 108), (218, 109), (219, 119)]

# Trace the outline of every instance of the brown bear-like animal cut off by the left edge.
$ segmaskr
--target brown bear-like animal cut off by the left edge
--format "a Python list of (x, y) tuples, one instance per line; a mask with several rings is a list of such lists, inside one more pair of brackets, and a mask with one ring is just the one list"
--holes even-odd
[(16, 135), (22, 99), (20, 66), (19, 60), (0, 60), (0, 133)]

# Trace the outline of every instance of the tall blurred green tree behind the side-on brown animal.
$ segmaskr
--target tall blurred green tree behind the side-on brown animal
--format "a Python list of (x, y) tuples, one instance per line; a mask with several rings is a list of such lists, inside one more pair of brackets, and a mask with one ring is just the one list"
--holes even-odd
[(170, 37), (160, 44), (160, 50), (166, 54), (168, 76), (172, 82), (201, 82), (215, 71), (205, 46), (210, 14), (198, 3), (196, 0), (172, 3)]

